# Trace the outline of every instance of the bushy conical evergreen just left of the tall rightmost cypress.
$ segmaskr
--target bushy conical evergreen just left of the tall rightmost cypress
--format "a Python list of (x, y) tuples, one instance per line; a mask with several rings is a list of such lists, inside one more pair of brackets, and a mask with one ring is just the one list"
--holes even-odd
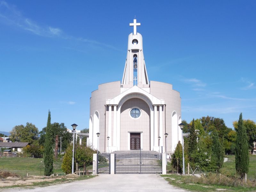
[(217, 131), (212, 132), (212, 160), (215, 160), (217, 168), (216, 171), (219, 172), (223, 165), (224, 152)]

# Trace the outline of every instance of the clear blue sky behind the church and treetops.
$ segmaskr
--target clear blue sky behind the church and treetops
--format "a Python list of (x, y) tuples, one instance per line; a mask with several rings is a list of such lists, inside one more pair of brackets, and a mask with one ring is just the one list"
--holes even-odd
[(149, 80), (173, 85), (182, 119), (256, 121), (256, 1), (1, 1), (0, 131), (89, 127), (91, 92), (122, 79), (129, 23)]

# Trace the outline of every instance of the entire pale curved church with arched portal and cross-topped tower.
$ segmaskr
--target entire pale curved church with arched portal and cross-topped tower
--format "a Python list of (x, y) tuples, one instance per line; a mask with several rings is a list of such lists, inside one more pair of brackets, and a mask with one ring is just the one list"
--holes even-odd
[(87, 144), (100, 152), (163, 148), (173, 153), (182, 137), (180, 93), (172, 84), (149, 82), (140, 23), (134, 19), (130, 26), (122, 82), (100, 84), (92, 92)]

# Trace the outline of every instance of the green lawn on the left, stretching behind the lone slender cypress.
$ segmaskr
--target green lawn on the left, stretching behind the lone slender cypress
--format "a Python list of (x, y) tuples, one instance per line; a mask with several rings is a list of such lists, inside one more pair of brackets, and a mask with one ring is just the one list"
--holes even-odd
[[(53, 173), (62, 175), (61, 161), (53, 162)], [(0, 158), (0, 169), (14, 172), (19, 176), (44, 175), (43, 158), (22, 158), (22, 157), (2, 157)], [(41, 170), (41, 171), (40, 171)]]

